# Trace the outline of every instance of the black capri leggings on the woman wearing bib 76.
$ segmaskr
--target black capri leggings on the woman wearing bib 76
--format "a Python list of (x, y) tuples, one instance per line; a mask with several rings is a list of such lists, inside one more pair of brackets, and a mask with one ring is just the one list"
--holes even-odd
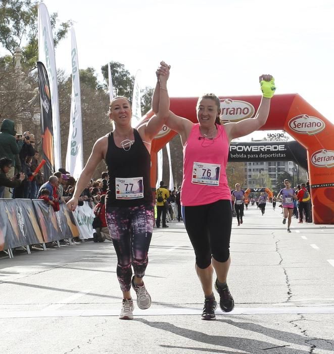
[(211, 257), (218, 262), (229, 258), (229, 241), (232, 227), (230, 200), (198, 206), (183, 206), (182, 217), (190, 242), (194, 247), (196, 264), (205, 269)]

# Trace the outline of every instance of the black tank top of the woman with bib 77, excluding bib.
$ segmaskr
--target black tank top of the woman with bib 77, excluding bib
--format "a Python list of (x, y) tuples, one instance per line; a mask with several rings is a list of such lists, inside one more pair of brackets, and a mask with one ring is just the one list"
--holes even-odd
[[(108, 150), (106, 165), (108, 169), (108, 190), (106, 195), (106, 207), (108, 206), (139, 206), (152, 203), (150, 184), (151, 156), (142, 142), (136, 129), (133, 129), (134, 143), (125, 151), (115, 145), (113, 132), (108, 135)], [(137, 199), (116, 199), (116, 178), (142, 178), (139, 181), (140, 191), (144, 188), (144, 197)]]

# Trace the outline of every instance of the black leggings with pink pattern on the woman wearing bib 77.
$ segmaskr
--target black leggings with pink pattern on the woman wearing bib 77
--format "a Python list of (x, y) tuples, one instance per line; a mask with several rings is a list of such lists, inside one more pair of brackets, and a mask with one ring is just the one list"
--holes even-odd
[(131, 288), (132, 268), (142, 278), (149, 262), (154, 206), (108, 207), (106, 220), (117, 254), (117, 278), (122, 291)]

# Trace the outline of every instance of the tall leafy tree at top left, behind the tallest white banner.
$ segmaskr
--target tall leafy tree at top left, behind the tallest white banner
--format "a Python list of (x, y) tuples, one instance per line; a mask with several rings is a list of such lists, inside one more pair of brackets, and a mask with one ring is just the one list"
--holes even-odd
[[(12, 61), (15, 48), (22, 47), (23, 67), (34, 69), (38, 58), (38, 3), (32, 0), (1, 0), (0, 4), (0, 43), (11, 53)], [(57, 13), (50, 16), (55, 47), (66, 37), (72, 24), (71, 21), (63, 22), (56, 30), (57, 17)]]

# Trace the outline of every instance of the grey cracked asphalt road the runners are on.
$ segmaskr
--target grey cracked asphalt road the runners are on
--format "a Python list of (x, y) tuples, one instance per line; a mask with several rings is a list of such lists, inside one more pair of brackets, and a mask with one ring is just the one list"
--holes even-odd
[(334, 353), (334, 226), (282, 225), (267, 204), (233, 218), (231, 313), (202, 321), (203, 295), (182, 223), (155, 229), (152, 306), (118, 319), (111, 242), (0, 259), (0, 353)]

